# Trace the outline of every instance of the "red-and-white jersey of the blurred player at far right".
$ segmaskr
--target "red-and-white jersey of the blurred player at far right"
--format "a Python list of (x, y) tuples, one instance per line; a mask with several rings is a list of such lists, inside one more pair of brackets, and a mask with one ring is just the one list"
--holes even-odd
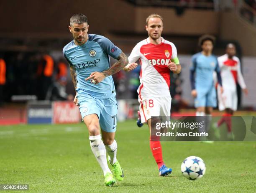
[(236, 83), (238, 83), (242, 89), (246, 88), (238, 57), (233, 56), (233, 58), (228, 58), (228, 54), (225, 54), (218, 57), (218, 63), (224, 90), (236, 90)]

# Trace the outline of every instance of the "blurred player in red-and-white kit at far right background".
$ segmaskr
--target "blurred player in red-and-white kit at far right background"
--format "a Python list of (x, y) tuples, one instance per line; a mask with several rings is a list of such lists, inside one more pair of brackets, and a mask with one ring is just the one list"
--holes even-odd
[[(228, 128), (228, 138), (233, 139), (231, 132), (231, 116), (234, 111), (237, 110), (237, 90), (236, 84), (238, 83), (243, 92), (247, 95), (248, 90), (243, 80), (241, 73), (240, 60), (236, 55), (236, 46), (233, 43), (229, 43), (226, 47), (226, 54), (218, 57), (218, 63), (220, 66), (220, 74), (222, 79), (223, 93), (220, 91), (220, 85), (218, 84), (218, 106), (219, 110), (225, 110), (223, 117), (218, 121), (217, 127), (220, 127), (224, 122)], [(220, 137), (219, 130), (216, 130), (216, 137)]]

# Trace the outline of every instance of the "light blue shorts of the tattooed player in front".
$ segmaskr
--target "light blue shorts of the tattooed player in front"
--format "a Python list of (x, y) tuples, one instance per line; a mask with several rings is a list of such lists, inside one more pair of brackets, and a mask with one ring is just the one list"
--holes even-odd
[(77, 99), (82, 118), (88, 114), (97, 114), (101, 129), (105, 132), (115, 132), (118, 112), (116, 97), (96, 99), (79, 91)]

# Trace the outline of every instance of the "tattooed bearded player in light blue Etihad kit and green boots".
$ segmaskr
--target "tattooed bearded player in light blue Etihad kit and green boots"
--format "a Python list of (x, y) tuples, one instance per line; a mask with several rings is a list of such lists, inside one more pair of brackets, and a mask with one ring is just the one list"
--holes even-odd
[[(116, 180), (123, 180), (123, 170), (116, 159), (118, 106), (111, 75), (123, 69), (128, 64), (128, 58), (109, 39), (88, 34), (88, 28), (85, 15), (75, 14), (70, 18), (69, 31), (74, 40), (63, 48), (63, 55), (69, 62), (76, 90), (74, 103), (79, 106), (88, 128), (90, 146), (103, 170), (105, 185), (110, 186)], [(109, 56), (118, 60), (111, 67)], [(106, 150), (112, 172), (108, 168)]]

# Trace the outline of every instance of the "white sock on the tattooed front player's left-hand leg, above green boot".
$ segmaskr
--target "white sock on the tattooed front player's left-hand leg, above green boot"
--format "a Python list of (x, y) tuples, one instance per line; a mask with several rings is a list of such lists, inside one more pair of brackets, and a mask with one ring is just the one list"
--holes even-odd
[(93, 154), (95, 155), (98, 163), (100, 164), (101, 169), (103, 170), (104, 176), (107, 172), (110, 172), (108, 168), (107, 158), (106, 158), (106, 149), (104, 143), (101, 140), (100, 135), (90, 136), (90, 145)]

